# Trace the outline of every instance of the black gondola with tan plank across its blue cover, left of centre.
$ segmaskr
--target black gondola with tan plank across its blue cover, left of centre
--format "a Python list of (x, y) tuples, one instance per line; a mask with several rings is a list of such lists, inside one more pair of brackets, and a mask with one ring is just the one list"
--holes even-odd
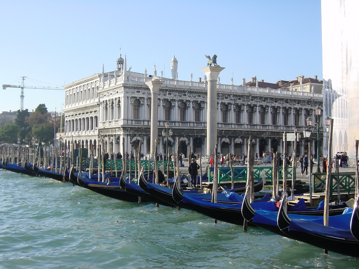
[[(123, 173), (121, 176), (125, 176)], [(101, 182), (98, 180), (85, 178), (81, 173), (78, 173), (77, 175), (77, 182), (78, 185), (92, 190), (93, 192), (97, 192), (99, 194), (118, 199), (123, 200), (127, 202), (138, 202), (139, 197), (136, 195), (133, 195), (129, 192), (126, 192), (125, 189), (123, 189), (120, 186), (120, 178), (110, 178), (110, 183)], [(147, 201), (143, 201), (147, 202)]]

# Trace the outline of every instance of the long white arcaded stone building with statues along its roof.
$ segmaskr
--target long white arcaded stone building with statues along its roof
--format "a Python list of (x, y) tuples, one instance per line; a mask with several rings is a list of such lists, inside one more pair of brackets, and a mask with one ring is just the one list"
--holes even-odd
[[(171, 71), (177, 69), (177, 59), (171, 61)], [(147, 74), (126, 69), (126, 57), (117, 59), (115, 71), (94, 74), (65, 85), (65, 128), (58, 135), (68, 146), (74, 140), (91, 151), (102, 140), (107, 152), (137, 149), (149, 152), (151, 94), (145, 84), (157, 74)], [(200, 67), (200, 66), (199, 66)], [(150, 73), (150, 72), (149, 72)], [(192, 152), (206, 152), (207, 81), (178, 80), (177, 72), (172, 78), (162, 78), (158, 94), (158, 152), (166, 145), (187, 156), (187, 146)], [(158, 75), (157, 75), (158, 76)], [(256, 144), (256, 153), (283, 151), (283, 133), (306, 129), (305, 119), (313, 118), (313, 109), (323, 105), (322, 81), (316, 76), (295, 80), (279, 80), (268, 83), (253, 77), (242, 85), (217, 84), (218, 150), (238, 155), (247, 151), (249, 136)], [(165, 140), (162, 130), (169, 123), (173, 136)], [(166, 143), (167, 142), (167, 143)], [(298, 142), (298, 152), (308, 150), (308, 141)], [(316, 152), (316, 141), (311, 141)], [(288, 142), (288, 152), (291, 151)], [(172, 149), (171, 149), (172, 151)], [(322, 148), (320, 149), (322, 152)], [(96, 154), (94, 152), (94, 154)]]

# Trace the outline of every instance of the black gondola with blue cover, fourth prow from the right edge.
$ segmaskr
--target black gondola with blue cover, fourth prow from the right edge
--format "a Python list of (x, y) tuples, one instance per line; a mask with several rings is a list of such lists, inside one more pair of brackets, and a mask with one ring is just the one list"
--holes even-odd
[[(181, 207), (191, 209), (205, 216), (236, 225), (243, 225), (244, 218), (241, 213), (242, 204), (212, 203), (198, 197), (193, 197), (181, 192), (175, 183), (172, 190), (172, 197)], [(269, 201), (268, 195), (263, 201)]]

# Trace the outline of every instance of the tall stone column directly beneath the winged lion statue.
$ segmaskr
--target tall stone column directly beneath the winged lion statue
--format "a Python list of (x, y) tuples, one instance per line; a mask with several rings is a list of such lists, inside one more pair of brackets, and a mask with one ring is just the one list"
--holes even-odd
[(208, 82), (207, 94), (207, 155), (211, 155), (212, 148), (217, 143), (217, 78), (224, 67), (206, 66), (201, 68)]

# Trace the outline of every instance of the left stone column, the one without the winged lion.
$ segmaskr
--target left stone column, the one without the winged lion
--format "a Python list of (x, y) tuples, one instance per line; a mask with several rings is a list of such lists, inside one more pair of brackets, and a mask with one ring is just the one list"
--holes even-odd
[(158, 137), (158, 93), (163, 82), (154, 79), (145, 82), (151, 90), (151, 132), (150, 132), (150, 155), (155, 153), (155, 139)]

